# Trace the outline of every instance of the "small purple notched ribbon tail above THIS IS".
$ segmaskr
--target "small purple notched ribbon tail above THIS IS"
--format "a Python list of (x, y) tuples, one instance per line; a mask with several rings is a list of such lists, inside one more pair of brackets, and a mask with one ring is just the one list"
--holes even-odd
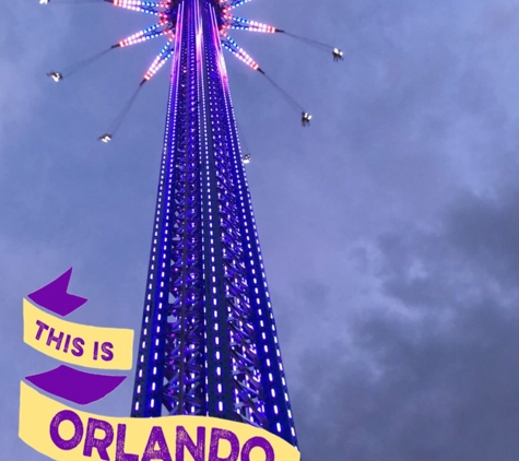
[(79, 309), (89, 300), (86, 298), (82, 298), (81, 296), (70, 295), (67, 293), (71, 275), (72, 268), (70, 268), (64, 274), (60, 275), (54, 282), (50, 282), (43, 288), (31, 293), (27, 297), (51, 312), (55, 312), (61, 317), (66, 317), (75, 309)]

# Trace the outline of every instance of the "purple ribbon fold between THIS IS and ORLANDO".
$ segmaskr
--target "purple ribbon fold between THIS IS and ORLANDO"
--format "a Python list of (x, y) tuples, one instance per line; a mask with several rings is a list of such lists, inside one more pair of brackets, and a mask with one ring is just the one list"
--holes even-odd
[(87, 405), (108, 395), (126, 376), (96, 375), (60, 365), (50, 371), (26, 376), (25, 379), (52, 395)]

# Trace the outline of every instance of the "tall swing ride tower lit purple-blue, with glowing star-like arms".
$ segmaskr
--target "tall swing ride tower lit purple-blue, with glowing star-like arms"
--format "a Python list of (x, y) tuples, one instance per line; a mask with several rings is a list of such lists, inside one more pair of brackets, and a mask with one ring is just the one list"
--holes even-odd
[(168, 38), (143, 83), (173, 60), (131, 415), (221, 417), (296, 446), (222, 52), (262, 72), (226, 31), (282, 31), (232, 16), (245, 1), (110, 1), (160, 19), (116, 47)]

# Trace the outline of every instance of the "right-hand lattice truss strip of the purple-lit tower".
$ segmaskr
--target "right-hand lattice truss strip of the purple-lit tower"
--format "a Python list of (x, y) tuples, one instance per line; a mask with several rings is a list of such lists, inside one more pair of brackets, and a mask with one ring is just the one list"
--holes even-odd
[(239, 151), (233, 145), (228, 131), (232, 129), (224, 103), (225, 83), (222, 79), (222, 48), (216, 31), (216, 16), (205, 5), (208, 20), (203, 22), (205, 39), (205, 64), (209, 107), (212, 128), (213, 182), (217, 199), (217, 235), (221, 240), (222, 274), (227, 332), (229, 338), (231, 374), (235, 417), (259, 426), (267, 426), (264, 416), (264, 391), (260, 385), (259, 360), (256, 351), (256, 333), (252, 324), (245, 251), (240, 229), (239, 204), (236, 197), (236, 180), (233, 159)]

